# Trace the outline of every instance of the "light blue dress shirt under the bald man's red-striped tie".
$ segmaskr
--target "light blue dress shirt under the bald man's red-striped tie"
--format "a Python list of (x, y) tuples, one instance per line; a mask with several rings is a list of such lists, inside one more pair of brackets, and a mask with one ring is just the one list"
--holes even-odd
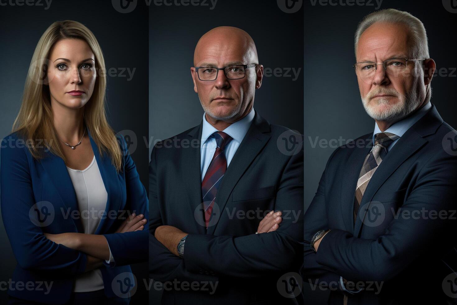
[[(231, 136), (233, 139), (228, 142), (228, 144), (224, 148), (225, 158), (227, 159), (227, 167), (232, 161), (233, 156), (235, 155), (236, 150), (243, 141), (244, 136), (248, 132), (248, 129), (251, 126), (252, 120), (254, 119), (255, 111), (254, 107), (251, 111), (241, 120), (236, 121), (235, 123), (231, 124), (227, 128), (223, 130), (224, 133)], [(216, 151), (216, 139), (210, 136), (218, 131), (218, 129), (214, 128), (213, 125), (207, 122), (205, 118), (205, 113), (203, 113), (203, 129), (202, 129), (202, 142), (200, 146), (200, 172), (202, 173), (202, 181), (203, 177), (205, 177), (205, 173), (208, 169), (211, 160), (213, 159), (214, 152)]]

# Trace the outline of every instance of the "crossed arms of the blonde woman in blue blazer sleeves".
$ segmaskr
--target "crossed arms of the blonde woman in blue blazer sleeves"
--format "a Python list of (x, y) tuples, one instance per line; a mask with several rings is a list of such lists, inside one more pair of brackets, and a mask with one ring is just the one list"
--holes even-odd
[[(11, 135), (11, 137), (15, 137)], [(146, 190), (139, 182), (138, 172), (122, 141), (125, 162), (127, 205), (131, 210), (147, 215), (149, 210)], [(90, 235), (75, 232), (47, 234), (33, 224), (29, 211), (36, 202), (32, 177), (27, 160), (27, 147), (2, 147), (0, 186), (1, 211), (6, 233), (18, 264), (24, 269), (58, 271), (80, 274), (85, 271), (121, 266), (147, 259), (146, 221), (135, 216), (117, 219), (112, 233)], [(127, 223), (129, 222), (129, 223)], [(65, 230), (65, 229), (63, 229)], [(109, 245), (109, 246), (108, 246)], [(131, 245), (130, 247), (128, 245)], [(134, 250), (126, 250), (132, 248)], [(106, 263), (112, 252), (114, 262)]]

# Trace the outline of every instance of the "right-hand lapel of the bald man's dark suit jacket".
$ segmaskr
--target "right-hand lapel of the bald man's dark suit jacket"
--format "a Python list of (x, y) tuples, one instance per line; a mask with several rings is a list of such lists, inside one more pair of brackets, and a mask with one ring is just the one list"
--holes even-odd
[(219, 185), (215, 199), (215, 203), (217, 203), (219, 207), (219, 215), (217, 222), (208, 228), (207, 234), (214, 234), (220, 221), (220, 216), (222, 216), (225, 205), (227, 204), (228, 197), (246, 169), (271, 138), (270, 133), (270, 124), (255, 112), (255, 117), (251, 126), (236, 150), (232, 161), (230, 161), (230, 165), (227, 167), (227, 171), (225, 171), (222, 182)]

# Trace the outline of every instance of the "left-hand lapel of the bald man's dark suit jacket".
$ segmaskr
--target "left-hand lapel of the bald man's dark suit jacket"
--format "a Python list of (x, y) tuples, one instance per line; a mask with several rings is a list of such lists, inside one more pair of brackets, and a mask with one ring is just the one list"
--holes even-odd
[[(203, 218), (203, 207), (202, 207), (202, 175), (200, 171), (200, 145), (202, 139), (202, 126), (203, 120), (195, 128), (192, 128), (187, 136), (194, 142), (197, 142), (198, 145), (189, 145), (188, 148), (183, 149), (182, 154), (182, 175), (184, 178), (184, 183), (186, 184), (187, 192), (189, 193), (189, 198), (191, 205), (189, 208), (188, 215), (194, 215), (195, 217), (195, 228), (198, 234), (206, 234), (205, 228), (205, 219)], [(195, 140), (197, 139), (197, 141)]]

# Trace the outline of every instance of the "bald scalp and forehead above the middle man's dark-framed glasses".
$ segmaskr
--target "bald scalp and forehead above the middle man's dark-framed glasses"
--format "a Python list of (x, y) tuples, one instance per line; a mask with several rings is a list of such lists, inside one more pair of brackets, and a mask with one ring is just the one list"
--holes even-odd
[(234, 64), (230, 62), (234, 58), (239, 58), (238, 64), (258, 64), (254, 40), (238, 27), (215, 27), (198, 40), (194, 65), (202, 66), (211, 62)]

